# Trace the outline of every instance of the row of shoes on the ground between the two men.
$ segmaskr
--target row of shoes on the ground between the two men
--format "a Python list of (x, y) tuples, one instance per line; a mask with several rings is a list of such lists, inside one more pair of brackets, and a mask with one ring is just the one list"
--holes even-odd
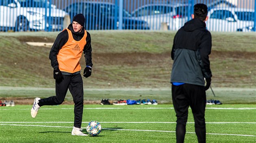
[[(112, 105), (108, 99), (102, 99), (100, 102), (101, 105)], [(118, 100), (117, 102), (113, 102), (113, 105), (157, 105), (157, 101), (155, 99), (139, 99), (139, 100)]]

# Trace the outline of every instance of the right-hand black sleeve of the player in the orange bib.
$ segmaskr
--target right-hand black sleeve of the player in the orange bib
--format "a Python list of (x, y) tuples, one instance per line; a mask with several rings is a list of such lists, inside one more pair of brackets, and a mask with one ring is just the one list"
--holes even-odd
[(87, 37), (86, 37), (86, 44), (84, 47), (84, 54), (85, 54), (85, 63), (86, 65), (92, 67), (93, 63), (91, 61), (91, 35), (89, 32), (87, 32)]

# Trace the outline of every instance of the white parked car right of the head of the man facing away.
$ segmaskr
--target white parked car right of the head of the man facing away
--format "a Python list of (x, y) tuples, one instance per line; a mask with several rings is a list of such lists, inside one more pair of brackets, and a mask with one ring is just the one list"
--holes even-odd
[(251, 31), (254, 25), (254, 10), (245, 8), (213, 8), (208, 12), (206, 27), (209, 31)]

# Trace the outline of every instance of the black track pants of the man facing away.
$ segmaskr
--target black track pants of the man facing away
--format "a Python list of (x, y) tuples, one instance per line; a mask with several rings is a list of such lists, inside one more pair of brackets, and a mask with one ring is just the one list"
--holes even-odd
[(191, 107), (194, 121), (195, 133), (199, 143), (206, 142), (205, 107), (206, 93), (204, 86), (193, 84), (182, 84), (171, 86), (172, 101), (177, 117), (176, 140), (177, 143), (184, 143), (186, 123), (188, 119), (188, 108)]

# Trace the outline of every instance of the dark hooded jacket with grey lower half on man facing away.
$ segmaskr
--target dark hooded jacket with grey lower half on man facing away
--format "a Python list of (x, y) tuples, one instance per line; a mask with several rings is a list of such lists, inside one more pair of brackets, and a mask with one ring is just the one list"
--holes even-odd
[(204, 78), (212, 77), (208, 56), (211, 46), (211, 34), (204, 21), (195, 18), (185, 23), (174, 37), (171, 82), (204, 86)]

